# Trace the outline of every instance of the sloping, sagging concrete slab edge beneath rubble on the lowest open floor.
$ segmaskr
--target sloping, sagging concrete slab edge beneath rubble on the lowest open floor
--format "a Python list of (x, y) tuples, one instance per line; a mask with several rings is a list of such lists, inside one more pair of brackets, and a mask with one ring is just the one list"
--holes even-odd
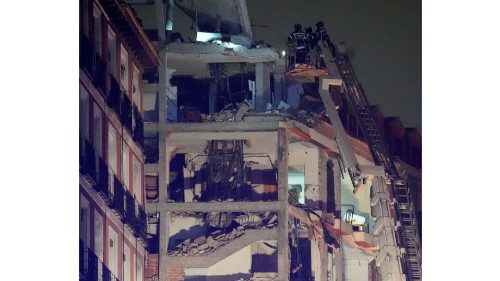
[(277, 229), (247, 229), (245, 230), (245, 234), (212, 253), (194, 257), (167, 256), (167, 264), (169, 267), (207, 268), (256, 241), (276, 240), (277, 238)]

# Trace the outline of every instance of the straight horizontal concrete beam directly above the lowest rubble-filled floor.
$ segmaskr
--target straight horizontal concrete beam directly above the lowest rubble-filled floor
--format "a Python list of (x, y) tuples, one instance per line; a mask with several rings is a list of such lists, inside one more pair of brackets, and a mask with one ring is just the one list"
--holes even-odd
[(278, 211), (279, 202), (192, 202), (148, 204), (148, 213), (155, 212), (265, 212)]

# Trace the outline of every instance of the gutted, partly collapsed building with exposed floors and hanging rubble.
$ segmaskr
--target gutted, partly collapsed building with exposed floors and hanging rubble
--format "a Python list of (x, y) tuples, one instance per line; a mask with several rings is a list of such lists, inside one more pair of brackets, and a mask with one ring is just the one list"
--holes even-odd
[[(420, 229), (401, 246), (395, 179), (341, 69), (294, 68), (256, 43), (243, 0), (126, 2), (163, 62), (142, 75), (146, 280), (420, 280), (407, 261)], [(415, 227), (420, 135), (367, 114)]]

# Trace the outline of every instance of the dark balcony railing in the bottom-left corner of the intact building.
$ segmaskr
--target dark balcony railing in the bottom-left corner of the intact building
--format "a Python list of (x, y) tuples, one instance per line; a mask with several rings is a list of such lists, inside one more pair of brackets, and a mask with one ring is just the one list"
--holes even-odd
[(80, 280), (118, 281), (111, 270), (80, 239)]

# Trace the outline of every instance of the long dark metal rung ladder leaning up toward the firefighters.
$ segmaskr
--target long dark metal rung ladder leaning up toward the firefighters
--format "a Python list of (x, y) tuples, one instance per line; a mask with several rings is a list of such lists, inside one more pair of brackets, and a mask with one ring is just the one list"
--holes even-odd
[[(333, 56), (336, 53), (333, 44), (329, 43), (328, 47)], [(333, 61), (337, 65), (340, 76), (345, 83), (347, 102), (355, 112), (358, 125), (361, 127), (363, 136), (370, 147), (373, 160), (375, 164), (385, 168), (391, 180), (394, 198), (397, 203), (395, 208), (396, 219), (399, 222), (396, 230), (397, 243), (401, 249), (404, 249), (402, 251), (402, 264), (406, 278), (409, 281), (421, 280), (421, 245), (411, 189), (408, 182), (399, 175), (377, 129), (363, 87), (361, 87), (354, 73), (349, 57), (346, 53), (337, 53), (337, 57), (333, 58)]]

